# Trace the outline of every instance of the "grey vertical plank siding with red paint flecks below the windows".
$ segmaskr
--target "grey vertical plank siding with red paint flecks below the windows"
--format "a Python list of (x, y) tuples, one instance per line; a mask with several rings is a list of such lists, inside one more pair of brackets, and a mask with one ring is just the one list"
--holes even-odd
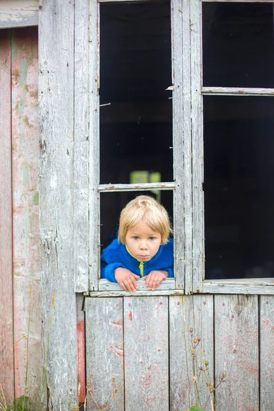
[[(97, 406), (186, 411), (195, 403), (191, 338), (199, 336), (198, 366), (209, 361), (215, 385), (227, 374), (216, 390), (218, 410), (271, 410), (273, 312), (273, 296), (88, 297), (86, 361)], [(203, 401), (206, 390), (201, 383)], [(97, 406), (88, 395), (88, 410)]]

